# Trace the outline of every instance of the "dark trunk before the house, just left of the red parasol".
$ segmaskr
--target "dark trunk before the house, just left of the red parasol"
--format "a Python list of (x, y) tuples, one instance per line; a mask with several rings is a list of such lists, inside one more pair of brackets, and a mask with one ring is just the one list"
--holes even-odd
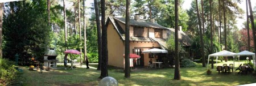
[(125, 14), (125, 78), (130, 78), (130, 0), (126, 0)]

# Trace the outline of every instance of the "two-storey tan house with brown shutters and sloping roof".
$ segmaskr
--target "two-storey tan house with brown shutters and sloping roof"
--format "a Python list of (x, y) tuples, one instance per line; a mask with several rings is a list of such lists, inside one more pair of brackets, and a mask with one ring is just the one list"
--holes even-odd
[[(108, 29), (108, 64), (110, 66), (124, 68), (125, 18), (109, 16), (106, 25)], [(142, 54), (141, 52), (151, 48), (167, 49), (167, 33), (170, 35), (172, 31), (173, 29), (171, 28), (156, 24), (154, 19), (151, 19), (150, 22), (139, 20), (138, 15), (136, 15), (134, 19), (130, 19), (130, 53), (141, 56), (139, 59), (131, 59), (131, 66), (148, 66), (148, 61), (150, 61), (150, 58), (154, 57), (154, 55)], [(179, 40), (183, 40), (182, 38), (184, 38), (183, 36), (185, 35), (185, 33), (183, 33), (181, 33)], [(191, 39), (189, 38), (189, 40)], [(185, 46), (191, 45), (190, 41), (180, 42)], [(156, 61), (156, 59), (153, 58), (152, 61)]]

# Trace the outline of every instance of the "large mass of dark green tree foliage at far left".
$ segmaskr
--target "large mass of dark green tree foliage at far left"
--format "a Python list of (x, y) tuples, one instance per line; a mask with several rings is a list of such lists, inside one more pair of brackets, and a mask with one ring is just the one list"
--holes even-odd
[(3, 57), (14, 60), (18, 53), (22, 65), (27, 65), (32, 55), (42, 61), (52, 38), (47, 26), (46, 1), (19, 1), (6, 3), (6, 6), (13, 7), (14, 11), (4, 11)]

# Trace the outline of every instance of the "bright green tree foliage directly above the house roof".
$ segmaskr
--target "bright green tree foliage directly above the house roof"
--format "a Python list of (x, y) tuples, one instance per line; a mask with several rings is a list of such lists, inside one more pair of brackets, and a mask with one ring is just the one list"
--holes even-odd
[[(150, 8), (151, 16), (156, 19), (156, 23), (163, 25), (164, 27), (174, 28), (174, 0), (135, 0), (131, 13), (139, 14), (143, 16), (143, 19), (150, 20)], [(183, 0), (180, 0), (180, 4)], [(185, 10), (179, 6), (179, 25), (186, 31), (188, 25), (188, 14)]]

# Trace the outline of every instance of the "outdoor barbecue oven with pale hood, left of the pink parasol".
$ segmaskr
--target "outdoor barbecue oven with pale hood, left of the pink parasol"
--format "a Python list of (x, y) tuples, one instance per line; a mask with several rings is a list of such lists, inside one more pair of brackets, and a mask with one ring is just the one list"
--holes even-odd
[(44, 53), (44, 66), (46, 67), (57, 67), (57, 53), (55, 49), (48, 48), (46, 53)]

